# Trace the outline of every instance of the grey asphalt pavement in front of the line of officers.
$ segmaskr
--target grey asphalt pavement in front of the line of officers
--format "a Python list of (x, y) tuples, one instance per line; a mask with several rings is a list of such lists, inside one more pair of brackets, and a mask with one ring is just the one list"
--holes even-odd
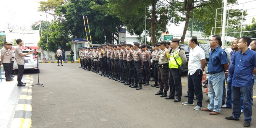
[[(232, 109), (219, 115), (193, 110), (187, 101), (187, 78), (182, 78), (181, 102), (165, 100), (156, 87), (136, 90), (122, 83), (79, 68), (79, 63), (40, 63), (39, 82), (32, 88), (32, 128), (242, 128), (239, 121), (225, 120)], [(37, 83), (37, 74), (30, 74)], [(150, 84), (154, 84), (150, 82)], [(203, 89), (205, 91), (205, 89)], [(168, 91), (169, 93), (169, 91)], [(255, 94), (255, 91), (254, 91)], [(203, 94), (204, 102), (208, 97)], [(256, 102), (254, 102), (256, 105)], [(255, 110), (251, 127), (256, 127)]]

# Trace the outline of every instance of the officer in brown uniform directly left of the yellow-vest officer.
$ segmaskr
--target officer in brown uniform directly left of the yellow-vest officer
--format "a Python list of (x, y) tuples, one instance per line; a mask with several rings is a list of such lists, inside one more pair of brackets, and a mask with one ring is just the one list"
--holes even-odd
[[(156, 95), (161, 95), (160, 97), (165, 97), (167, 96), (167, 91), (169, 90), (168, 86), (168, 76), (169, 76), (169, 67), (168, 67), (168, 62), (169, 62), (169, 50), (166, 49), (166, 41), (161, 41), (160, 42), (160, 49), (162, 50), (160, 52), (160, 57), (159, 57), (159, 71), (158, 71), (158, 82), (159, 82), (159, 91), (156, 92)], [(163, 92), (164, 89), (164, 92)], [(174, 99), (173, 97), (170, 97)]]

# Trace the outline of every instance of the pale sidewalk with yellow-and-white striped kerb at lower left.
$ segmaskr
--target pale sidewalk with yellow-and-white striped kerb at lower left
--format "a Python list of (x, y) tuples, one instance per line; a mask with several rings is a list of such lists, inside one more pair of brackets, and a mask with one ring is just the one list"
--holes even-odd
[[(4, 75), (2, 75), (3, 78)], [(30, 128), (32, 79), (23, 76), (24, 87), (17, 86), (17, 76), (13, 81), (0, 81), (0, 128)]]

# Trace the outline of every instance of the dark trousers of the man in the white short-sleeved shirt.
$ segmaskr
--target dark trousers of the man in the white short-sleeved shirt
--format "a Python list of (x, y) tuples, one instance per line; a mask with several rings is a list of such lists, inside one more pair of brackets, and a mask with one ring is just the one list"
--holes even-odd
[[(200, 69), (198, 69), (199, 71)], [(202, 107), (203, 91), (202, 91), (202, 77), (203, 72), (200, 70), (196, 71), (193, 75), (188, 74), (188, 103), (193, 104), (194, 94), (196, 93), (197, 104)]]

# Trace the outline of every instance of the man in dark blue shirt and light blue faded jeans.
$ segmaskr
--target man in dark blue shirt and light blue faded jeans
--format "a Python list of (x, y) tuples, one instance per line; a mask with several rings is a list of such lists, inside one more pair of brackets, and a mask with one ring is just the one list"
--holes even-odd
[(217, 115), (220, 113), (222, 104), (223, 81), (225, 79), (224, 71), (228, 68), (227, 55), (222, 48), (221, 37), (218, 35), (212, 36), (209, 46), (211, 52), (209, 54), (208, 72), (209, 72), (209, 90), (208, 96), (210, 104), (202, 111), (210, 112), (210, 115)]

